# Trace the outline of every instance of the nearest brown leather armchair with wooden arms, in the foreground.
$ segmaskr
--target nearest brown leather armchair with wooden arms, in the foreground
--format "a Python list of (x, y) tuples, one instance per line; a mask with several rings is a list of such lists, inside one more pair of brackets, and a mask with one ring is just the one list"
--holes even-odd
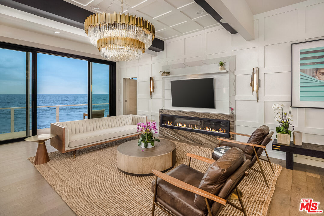
[[(241, 208), (228, 201), (242, 181), (250, 160), (243, 161), (243, 151), (231, 148), (218, 161), (187, 153), (189, 165), (181, 164), (168, 174), (153, 170), (152, 182), (154, 216), (155, 206), (170, 216), (216, 216), (228, 203), (246, 216), (242, 198)], [(206, 173), (190, 167), (191, 157), (211, 164)], [(168, 209), (168, 210), (166, 210)], [(170, 211), (170, 212), (169, 212)]]

